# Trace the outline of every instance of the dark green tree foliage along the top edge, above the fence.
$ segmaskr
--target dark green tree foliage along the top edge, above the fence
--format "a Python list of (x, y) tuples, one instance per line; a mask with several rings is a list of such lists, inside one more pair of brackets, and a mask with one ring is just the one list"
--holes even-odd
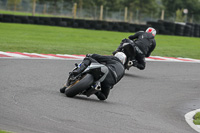
[[(20, 2), (33, 2), (33, 0), (0, 0), (11, 10), (17, 10)], [(99, 9), (103, 5), (106, 11), (124, 11), (127, 7), (129, 16), (141, 17), (146, 14), (149, 17), (161, 15), (161, 10), (165, 10), (165, 18), (168, 17), (187, 17), (186, 19), (197, 19), (200, 21), (200, 0), (36, 0), (39, 4), (51, 3), (48, 11), (59, 13), (62, 9), (73, 7), (77, 3), (77, 9), (81, 13), (82, 9)], [(44, 9), (46, 7), (44, 6)], [(187, 14), (184, 14), (187, 9)], [(186, 10), (185, 10), (186, 11)], [(131, 14), (132, 13), (132, 14)], [(133, 14), (134, 13), (134, 14)], [(178, 14), (178, 15), (176, 15)], [(187, 15), (187, 16), (186, 16)], [(175, 20), (175, 19), (174, 19)]]

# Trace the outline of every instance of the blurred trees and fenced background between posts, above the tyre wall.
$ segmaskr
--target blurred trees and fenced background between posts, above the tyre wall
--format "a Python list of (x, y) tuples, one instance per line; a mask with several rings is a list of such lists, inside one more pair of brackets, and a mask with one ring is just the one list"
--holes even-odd
[(30, 12), (36, 1), (36, 12), (71, 17), (77, 3), (77, 17), (98, 19), (103, 5), (104, 20), (123, 21), (125, 7), (128, 21), (157, 21), (164, 10), (164, 19), (200, 23), (200, 0), (0, 0), (1, 10)]

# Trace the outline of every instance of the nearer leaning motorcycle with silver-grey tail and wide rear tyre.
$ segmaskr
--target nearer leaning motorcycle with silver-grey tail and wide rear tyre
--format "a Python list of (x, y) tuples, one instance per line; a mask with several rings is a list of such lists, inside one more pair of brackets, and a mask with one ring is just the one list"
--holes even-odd
[[(78, 69), (81, 64), (75, 64)], [(76, 95), (86, 95), (87, 97), (101, 91), (100, 82), (102, 82), (108, 74), (108, 68), (98, 62), (91, 64), (80, 74), (74, 76), (69, 73), (66, 85), (60, 89), (61, 93), (65, 93), (67, 97)]]

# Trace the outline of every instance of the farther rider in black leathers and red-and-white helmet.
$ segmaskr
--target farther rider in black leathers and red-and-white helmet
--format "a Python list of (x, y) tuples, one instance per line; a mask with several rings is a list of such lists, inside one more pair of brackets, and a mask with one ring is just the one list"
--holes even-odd
[[(150, 27), (146, 30), (146, 32), (139, 31), (136, 32), (134, 35), (128, 37), (130, 40), (133, 40), (132, 46), (136, 54), (135, 58), (133, 58), (132, 65), (140, 70), (145, 69), (145, 57), (149, 57), (151, 52), (156, 47), (156, 41), (154, 39), (155, 35), (155, 29)], [(113, 52), (113, 54), (115, 54), (117, 51), (120, 51), (120, 48), (122, 47), (124, 42), (130, 42), (130, 40), (122, 40), (122, 43), (117, 48), (117, 50)]]

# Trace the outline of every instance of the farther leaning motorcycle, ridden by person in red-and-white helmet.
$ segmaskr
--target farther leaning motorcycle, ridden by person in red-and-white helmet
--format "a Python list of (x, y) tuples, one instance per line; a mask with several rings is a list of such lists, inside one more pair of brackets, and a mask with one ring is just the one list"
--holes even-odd
[[(134, 42), (130, 39), (123, 39), (121, 42), (121, 45), (117, 52), (123, 52), (127, 59), (124, 63), (124, 68), (129, 70), (130, 67), (133, 66), (133, 60), (135, 59), (135, 48), (133, 47)], [(114, 55), (116, 54), (116, 51), (114, 52)]]

